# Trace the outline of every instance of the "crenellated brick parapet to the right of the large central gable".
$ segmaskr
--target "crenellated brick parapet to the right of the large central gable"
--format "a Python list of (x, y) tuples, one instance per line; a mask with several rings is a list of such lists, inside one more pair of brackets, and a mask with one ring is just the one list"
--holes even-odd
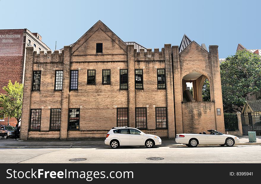
[(137, 52), (137, 49), (134, 49), (134, 57), (135, 61), (157, 61), (157, 60), (164, 60), (164, 48), (161, 49), (161, 52), (159, 49), (155, 48), (154, 52), (152, 52), (152, 49), (147, 49), (147, 52), (144, 52), (144, 49), (140, 49), (139, 52)]

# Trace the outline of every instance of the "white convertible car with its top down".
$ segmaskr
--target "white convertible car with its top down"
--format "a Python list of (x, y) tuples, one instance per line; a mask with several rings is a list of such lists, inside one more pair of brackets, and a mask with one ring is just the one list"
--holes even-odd
[(208, 134), (182, 133), (177, 134), (176, 143), (185, 144), (186, 146), (196, 147), (200, 144), (219, 144), (220, 146), (234, 146), (239, 143), (239, 138), (234, 135), (227, 135), (216, 130), (208, 130)]

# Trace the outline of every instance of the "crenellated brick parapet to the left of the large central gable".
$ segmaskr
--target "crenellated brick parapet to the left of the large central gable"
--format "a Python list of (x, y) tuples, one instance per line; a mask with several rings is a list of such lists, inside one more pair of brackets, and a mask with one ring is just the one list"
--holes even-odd
[(52, 51), (40, 51), (37, 54), (37, 51), (34, 51), (34, 63), (45, 63), (45, 62), (63, 62), (63, 51), (59, 53), (59, 50)]

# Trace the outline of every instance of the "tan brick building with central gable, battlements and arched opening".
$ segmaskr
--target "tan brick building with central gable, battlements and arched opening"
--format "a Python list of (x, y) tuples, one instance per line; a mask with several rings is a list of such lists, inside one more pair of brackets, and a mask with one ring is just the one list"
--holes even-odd
[[(98, 21), (61, 53), (27, 47), (21, 139), (104, 138), (125, 125), (166, 138), (225, 131), (218, 46), (137, 52), (126, 43)], [(203, 102), (206, 78), (211, 101)], [(183, 102), (187, 81), (195, 100)]]

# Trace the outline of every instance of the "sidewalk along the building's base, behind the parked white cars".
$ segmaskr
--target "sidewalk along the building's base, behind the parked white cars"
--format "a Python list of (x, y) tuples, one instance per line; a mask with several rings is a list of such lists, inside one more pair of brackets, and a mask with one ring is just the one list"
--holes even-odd
[[(249, 142), (248, 136), (239, 137), (240, 143), (236, 145), (261, 145), (261, 136), (257, 136), (257, 142)], [(159, 146), (185, 146), (175, 142), (175, 139), (163, 139)], [(83, 140), (28, 140), (1, 139), (1, 148), (84, 148), (84, 147), (109, 147), (104, 144), (104, 139)]]

